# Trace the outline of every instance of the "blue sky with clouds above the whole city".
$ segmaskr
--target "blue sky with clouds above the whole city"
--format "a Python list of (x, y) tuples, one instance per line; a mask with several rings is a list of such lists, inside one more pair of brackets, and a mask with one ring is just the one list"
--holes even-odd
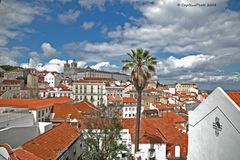
[(0, 64), (62, 71), (76, 59), (120, 71), (142, 47), (158, 58), (162, 83), (239, 89), (238, 26), (239, 0), (2, 0)]

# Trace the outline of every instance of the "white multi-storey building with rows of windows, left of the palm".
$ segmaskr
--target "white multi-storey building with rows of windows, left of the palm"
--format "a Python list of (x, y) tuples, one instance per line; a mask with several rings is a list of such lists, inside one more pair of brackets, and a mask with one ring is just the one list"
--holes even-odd
[(73, 82), (73, 98), (76, 101), (88, 100), (95, 106), (107, 105), (106, 85), (96, 80), (78, 80)]

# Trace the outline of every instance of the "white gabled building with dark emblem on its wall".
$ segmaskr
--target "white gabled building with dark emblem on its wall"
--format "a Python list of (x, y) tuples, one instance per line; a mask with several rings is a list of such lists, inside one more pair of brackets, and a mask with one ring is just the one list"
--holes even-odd
[(240, 92), (216, 88), (189, 112), (189, 160), (239, 159)]

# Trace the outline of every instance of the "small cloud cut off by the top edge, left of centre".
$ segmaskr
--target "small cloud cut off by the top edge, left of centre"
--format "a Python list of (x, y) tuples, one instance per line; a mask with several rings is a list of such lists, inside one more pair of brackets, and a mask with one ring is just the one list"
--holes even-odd
[(106, 0), (79, 0), (78, 3), (87, 8), (91, 9), (92, 7), (96, 6), (99, 9), (103, 9), (103, 6), (105, 4)]

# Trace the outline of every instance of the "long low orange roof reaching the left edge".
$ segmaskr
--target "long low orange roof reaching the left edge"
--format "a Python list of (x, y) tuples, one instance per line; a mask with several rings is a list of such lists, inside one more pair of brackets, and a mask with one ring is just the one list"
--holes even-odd
[(17, 107), (17, 108), (29, 108), (29, 109), (40, 109), (53, 106), (55, 103), (68, 103), (72, 99), (68, 97), (58, 98), (45, 98), (45, 99), (0, 99), (0, 107)]

